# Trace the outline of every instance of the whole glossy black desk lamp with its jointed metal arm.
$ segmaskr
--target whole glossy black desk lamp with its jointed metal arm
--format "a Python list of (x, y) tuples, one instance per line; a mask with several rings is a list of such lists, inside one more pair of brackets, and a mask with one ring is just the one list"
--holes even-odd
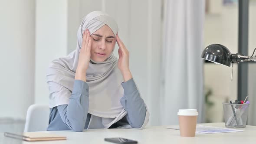
[[(254, 49), (253, 54), (256, 49)], [(239, 53), (231, 53), (229, 49), (225, 46), (220, 44), (211, 44), (207, 46), (201, 55), (201, 58), (206, 59), (208, 61), (214, 62), (216, 64), (231, 66), (232, 64), (232, 75), (233, 76), (233, 63), (240, 63), (240, 62), (249, 62), (254, 61), (256, 62), (256, 56), (244, 56), (243, 54)]]

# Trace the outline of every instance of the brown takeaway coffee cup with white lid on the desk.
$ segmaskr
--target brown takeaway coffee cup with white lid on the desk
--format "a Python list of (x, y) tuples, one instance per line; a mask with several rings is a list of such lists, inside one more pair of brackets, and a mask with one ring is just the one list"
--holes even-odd
[(179, 109), (179, 125), (181, 137), (194, 137), (197, 127), (197, 109)]

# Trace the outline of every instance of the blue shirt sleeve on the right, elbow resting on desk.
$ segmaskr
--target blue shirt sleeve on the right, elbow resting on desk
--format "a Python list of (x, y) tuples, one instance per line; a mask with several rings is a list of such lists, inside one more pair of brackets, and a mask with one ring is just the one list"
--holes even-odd
[(141, 128), (146, 117), (146, 105), (133, 79), (121, 84), (124, 96), (120, 99), (121, 105), (128, 111), (126, 118), (132, 128)]

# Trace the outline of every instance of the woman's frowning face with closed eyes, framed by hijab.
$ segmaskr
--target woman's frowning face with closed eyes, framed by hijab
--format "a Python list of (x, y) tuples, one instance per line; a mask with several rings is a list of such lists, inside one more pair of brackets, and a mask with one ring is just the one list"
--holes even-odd
[(104, 62), (115, 48), (115, 35), (112, 30), (104, 25), (91, 34), (91, 59), (95, 62)]

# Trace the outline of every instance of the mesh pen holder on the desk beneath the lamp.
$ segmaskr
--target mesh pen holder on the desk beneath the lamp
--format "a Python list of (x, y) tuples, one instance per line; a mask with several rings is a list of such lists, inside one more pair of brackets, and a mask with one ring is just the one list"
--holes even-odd
[(224, 120), (227, 128), (245, 128), (249, 104), (222, 103)]

